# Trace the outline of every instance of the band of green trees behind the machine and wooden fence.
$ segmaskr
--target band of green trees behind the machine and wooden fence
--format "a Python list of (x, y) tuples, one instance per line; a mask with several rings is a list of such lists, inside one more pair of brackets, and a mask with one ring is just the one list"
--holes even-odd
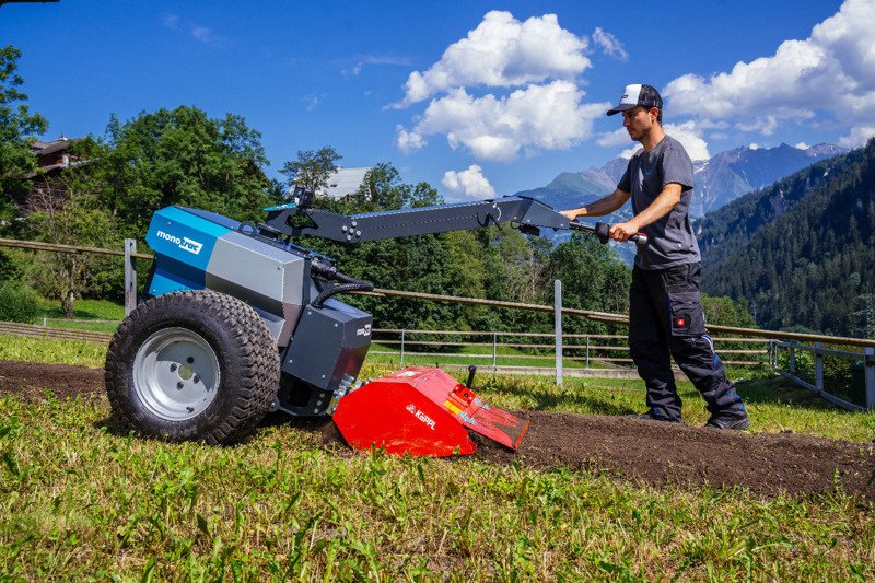
[[(287, 200), (293, 186), (318, 190), (342, 156), (330, 147), (302, 150), (268, 178), (260, 133), (243, 117), (212, 118), (194, 106), (110, 116), (103, 135), (70, 147), (75, 161), (40, 173), (30, 147), (47, 120), (27, 109), (20, 53), (0, 51), (0, 236), (119, 248), (127, 237), (142, 246), (152, 214), (180, 205), (240, 221), (264, 220), (264, 208)], [(351, 214), (440, 205), (428, 183), (408, 184), (390, 162), (376, 163), (345, 200), (315, 205)], [(631, 272), (609, 246), (575, 234), (553, 246), (510, 226), (421, 235), (358, 245), (303, 237), (299, 244), (336, 259), (345, 272), (388, 289), (551, 303), (553, 280), (563, 281), (564, 305), (626, 313)], [(148, 249), (145, 249), (148, 250)], [(32, 285), (73, 314), (78, 298), (120, 299), (120, 261), (98, 256), (0, 249), (0, 280)], [(542, 314), (404, 299), (347, 298), (371, 312), (381, 327), (478, 330), (549, 330)], [(707, 300), (714, 323), (746, 325), (750, 317), (728, 299)], [(621, 331), (571, 318), (569, 333)]]

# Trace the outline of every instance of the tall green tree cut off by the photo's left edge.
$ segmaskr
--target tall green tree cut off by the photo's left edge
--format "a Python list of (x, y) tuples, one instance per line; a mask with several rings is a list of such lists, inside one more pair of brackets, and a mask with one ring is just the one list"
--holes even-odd
[(19, 91), (24, 84), (15, 73), (19, 58), (18, 48), (0, 48), (0, 231), (11, 224), (31, 189), (27, 176), (36, 170), (36, 156), (28, 138), (48, 129), (46, 119), (23, 103), (27, 95)]

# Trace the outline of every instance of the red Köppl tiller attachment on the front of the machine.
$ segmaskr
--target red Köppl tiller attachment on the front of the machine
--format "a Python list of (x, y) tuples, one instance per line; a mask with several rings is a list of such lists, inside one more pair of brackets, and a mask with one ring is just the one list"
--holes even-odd
[(447, 456), (472, 454), (467, 429), (516, 450), (528, 420), (490, 407), (440, 369), (410, 366), (371, 381), (337, 405), (335, 423), (357, 450)]

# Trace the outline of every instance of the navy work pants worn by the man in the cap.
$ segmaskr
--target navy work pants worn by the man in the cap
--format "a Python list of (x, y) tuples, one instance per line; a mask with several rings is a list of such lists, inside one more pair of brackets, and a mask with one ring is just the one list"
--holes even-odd
[(700, 265), (632, 270), (629, 290), (629, 348), (648, 387), (654, 417), (681, 420), (681, 403), (669, 355), (715, 413), (740, 403), (705, 333), (699, 294)]

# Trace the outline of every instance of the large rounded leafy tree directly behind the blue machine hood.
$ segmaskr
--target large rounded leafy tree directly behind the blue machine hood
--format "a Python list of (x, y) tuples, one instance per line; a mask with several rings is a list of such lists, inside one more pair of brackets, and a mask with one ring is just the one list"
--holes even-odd
[(241, 116), (213, 119), (197, 107), (141, 113), (124, 124), (113, 116), (88, 188), (135, 238), (170, 205), (262, 220), (276, 188), (264, 173), (260, 138)]

